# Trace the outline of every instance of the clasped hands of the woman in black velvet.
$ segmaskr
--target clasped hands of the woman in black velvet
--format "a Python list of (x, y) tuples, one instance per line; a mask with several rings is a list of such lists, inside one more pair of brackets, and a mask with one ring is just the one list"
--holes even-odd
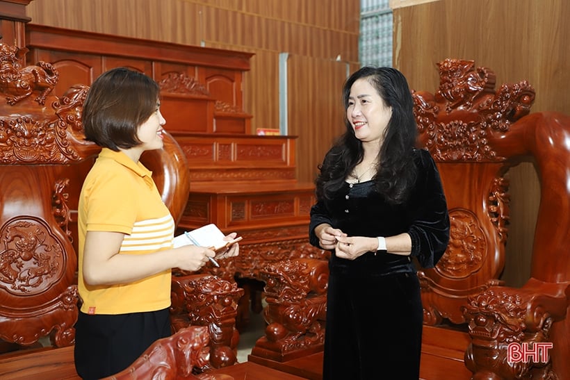
[(377, 238), (364, 236), (348, 236), (340, 229), (334, 229), (328, 224), (320, 224), (315, 229), (319, 245), (323, 249), (335, 250), (336, 257), (354, 260), (369, 251), (375, 251), (378, 247)]

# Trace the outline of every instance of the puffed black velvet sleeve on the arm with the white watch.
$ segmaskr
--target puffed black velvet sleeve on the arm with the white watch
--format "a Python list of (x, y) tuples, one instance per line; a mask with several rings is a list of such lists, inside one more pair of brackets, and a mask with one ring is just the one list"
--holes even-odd
[(434, 267), (449, 242), (449, 214), (435, 162), (427, 150), (419, 151), (418, 182), (412, 195), (412, 254), (424, 268)]

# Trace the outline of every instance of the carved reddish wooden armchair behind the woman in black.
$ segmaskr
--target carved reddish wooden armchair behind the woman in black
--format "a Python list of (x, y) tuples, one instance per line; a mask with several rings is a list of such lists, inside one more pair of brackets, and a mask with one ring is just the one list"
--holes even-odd
[[(443, 60), (435, 94), (414, 92), (419, 144), (437, 162), (451, 220), (450, 244), (420, 272), (424, 321), (469, 327), (473, 379), (562, 379), (570, 373), (570, 117), (528, 115), (526, 81), (501, 85), (473, 61)], [(542, 196), (531, 278), (503, 286), (510, 220), (505, 173), (535, 160)], [(546, 363), (509, 363), (510, 343), (552, 342)]]

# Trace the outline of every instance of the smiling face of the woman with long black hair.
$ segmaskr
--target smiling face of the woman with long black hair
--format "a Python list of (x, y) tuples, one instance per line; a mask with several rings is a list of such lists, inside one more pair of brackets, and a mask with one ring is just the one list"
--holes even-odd
[(392, 117), (392, 108), (366, 78), (355, 81), (350, 88), (346, 117), (355, 136), (362, 142), (384, 140), (384, 131)]

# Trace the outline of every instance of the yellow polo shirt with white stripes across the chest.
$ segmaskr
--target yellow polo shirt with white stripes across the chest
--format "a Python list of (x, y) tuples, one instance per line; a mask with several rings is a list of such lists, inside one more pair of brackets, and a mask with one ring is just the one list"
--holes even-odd
[(152, 172), (122, 152), (102, 149), (81, 188), (78, 213), (81, 311), (124, 314), (168, 308), (170, 270), (113, 286), (89, 286), (81, 270), (87, 231), (124, 233), (120, 254), (172, 248), (174, 220), (156, 189)]

